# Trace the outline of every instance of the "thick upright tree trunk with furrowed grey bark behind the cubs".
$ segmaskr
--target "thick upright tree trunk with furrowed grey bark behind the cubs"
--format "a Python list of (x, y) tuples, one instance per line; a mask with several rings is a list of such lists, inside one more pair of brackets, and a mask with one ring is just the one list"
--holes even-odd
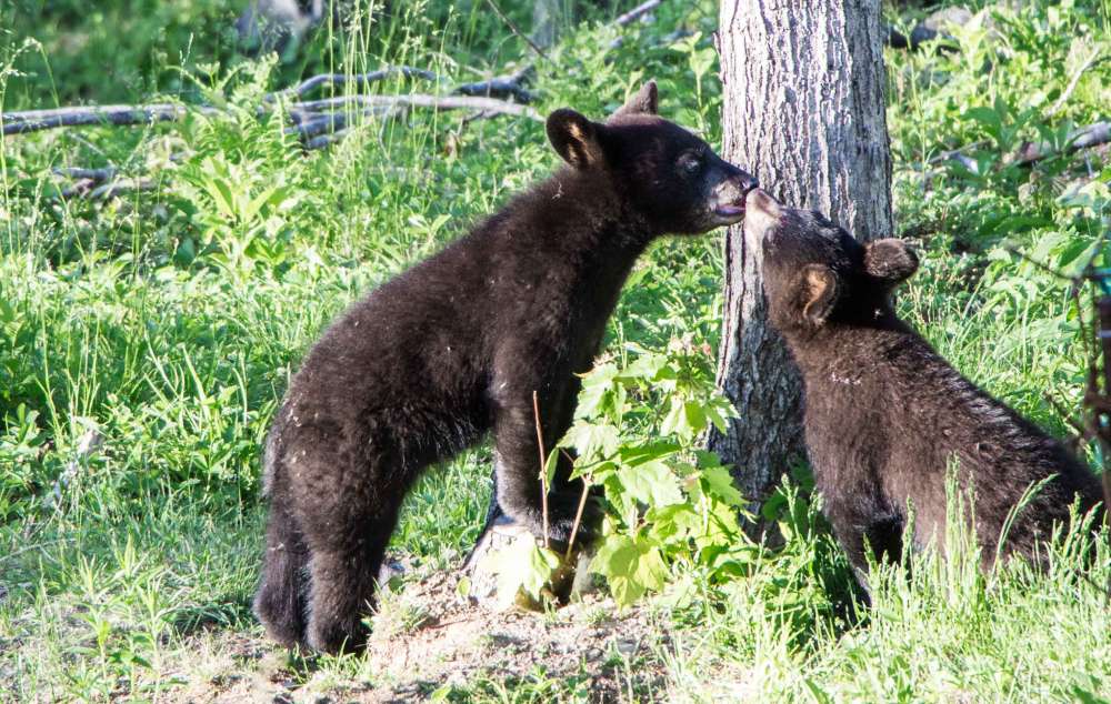
[[(880, 0), (722, 0), (724, 158), (781, 202), (892, 233)], [(803, 454), (801, 381), (767, 322), (760, 242), (730, 228), (718, 385), (740, 412), (709, 446), (759, 503)]]

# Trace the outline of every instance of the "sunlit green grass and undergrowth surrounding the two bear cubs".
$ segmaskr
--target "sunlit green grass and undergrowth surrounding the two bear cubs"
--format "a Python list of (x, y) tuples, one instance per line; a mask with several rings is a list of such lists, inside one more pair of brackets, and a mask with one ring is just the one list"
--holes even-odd
[[(303, 153), (279, 123), (253, 117), (262, 92), (318, 70), (409, 63), (450, 83), (531, 60), (483, 2), (429, 1), (389, 16), (363, 6), (357, 21), (283, 61), (236, 53), (228, 28), (239, 3), (87, 4), (0, 8), (13, 18), (0, 22), (3, 110), (160, 95), (231, 110), (0, 141), (3, 701), (173, 698), (207, 672), (199, 642), (219, 650), (221, 637), (258, 637), (249, 602), (263, 521), (259, 454), (291, 370), (360, 292), (556, 165), (529, 120), (414, 112)], [(511, 11), (528, 24), (527, 11)], [(900, 304), (961, 371), (1063, 433), (1044, 394), (1077, 408), (1085, 371), (1068, 282), (1002, 245), (1074, 270), (1108, 227), (1107, 152), (998, 164), (1023, 140), (1111, 118), (1107, 61), (1045, 117), (1092, 51), (1111, 52), (1111, 6), (1039, 1), (993, 21), (998, 34), (970, 30), (954, 53), (887, 54), (897, 234), (914, 239), (923, 259)], [(608, 52), (600, 47), (612, 31), (580, 24), (539, 62), (537, 108), (600, 115), (651, 76), (664, 114), (720, 144), (720, 87), (704, 63), (715, 22), (713, 2), (664, 3), (653, 24)], [(677, 30), (700, 34), (677, 41)], [(376, 90), (431, 89), (397, 79)], [(930, 163), (965, 144), (982, 175)], [(107, 164), (159, 188), (103, 203), (57, 198), (53, 168)], [(263, 194), (258, 211), (243, 207)], [(622, 298), (608, 350), (663, 349), (682, 336), (715, 346), (720, 286), (720, 234), (661, 242)], [(79, 456), (90, 431), (102, 445)], [(428, 474), (393, 550), (421, 569), (458, 566), (483, 515), (489, 462), (479, 449)], [(1105, 535), (1087, 566), (1062, 539), (1047, 574), (1015, 565), (984, 579), (969, 567), (971, 551), (948, 564), (914, 556), (911, 576), (879, 579), (875, 606), (862, 614), (808, 505), (789, 522), (788, 545), (749, 577), (711, 586), (674, 575), (697, 597), (649, 606), (671, 634), (654, 654), (665, 691), (627, 698), (1111, 700)], [(373, 676), (328, 658), (294, 673), (322, 675)], [(589, 697), (589, 683), (538, 672), (447, 696), (575, 700)]]

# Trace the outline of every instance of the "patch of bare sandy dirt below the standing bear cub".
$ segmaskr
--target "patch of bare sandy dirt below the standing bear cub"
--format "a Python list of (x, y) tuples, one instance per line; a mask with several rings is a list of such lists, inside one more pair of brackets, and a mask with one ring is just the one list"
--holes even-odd
[[(164, 674), (182, 682), (168, 701), (417, 702), (476, 682), (528, 682), (538, 673), (589, 701), (664, 698), (660, 653), (669, 638), (644, 610), (617, 611), (585, 595), (549, 613), (494, 611), (439, 573), (383, 594), (366, 658), (313, 664), (263, 637), (199, 634)], [(168, 663), (169, 664), (169, 663)], [(561, 687), (564, 688), (565, 687)], [(160, 697), (161, 698), (161, 697)]]

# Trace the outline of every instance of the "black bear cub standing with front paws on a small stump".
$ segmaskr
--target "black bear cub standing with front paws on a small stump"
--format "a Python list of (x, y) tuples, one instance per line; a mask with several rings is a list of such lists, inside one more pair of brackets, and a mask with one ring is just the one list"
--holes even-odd
[[(658, 235), (740, 221), (755, 187), (657, 117), (651, 82), (604, 123), (564, 109), (547, 130), (567, 167), (353, 304), (294, 375), (266, 447), (270, 520), (254, 600), (277, 641), (364, 644), (361, 620), (406, 492), (488, 431), (497, 504), (539, 535), (533, 391), (550, 446), (637, 257)], [(565, 541), (578, 492), (556, 484), (550, 533)]]

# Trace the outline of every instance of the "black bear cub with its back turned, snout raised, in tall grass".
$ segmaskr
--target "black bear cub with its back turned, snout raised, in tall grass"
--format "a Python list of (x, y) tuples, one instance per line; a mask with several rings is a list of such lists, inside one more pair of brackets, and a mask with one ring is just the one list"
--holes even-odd
[(973, 490), (984, 567), (1031, 484), (1048, 480), (1015, 517), (1004, 554), (1032, 555), (1054, 523), (1068, 522), (1074, 500), (1085, 512), (1101, 501), (1088, 466), (895, 316), (891, 290), (918, 269), (904, 242), (861, 244), (821, 214), (783, 208), (761, 190), (748, 197), (744, 228), (762, 242), (769, 318), (802, 372), (814, 479), (858, 574), (865, 542), (878, 557), (899, 559), (908, 504), (912, 546), (943, 541), (950, 467), (962, 491)]

